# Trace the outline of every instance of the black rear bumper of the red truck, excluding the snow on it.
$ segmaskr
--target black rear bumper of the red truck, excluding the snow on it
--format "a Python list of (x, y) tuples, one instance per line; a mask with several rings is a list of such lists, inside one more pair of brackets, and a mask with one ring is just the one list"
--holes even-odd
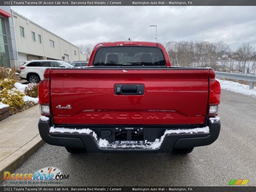
[[(211, 123), (207, 119), (206, 126), (209, 126), (210, 132), (206, 133), (181, 133), (181, 134), (166, 134), (160, 147), (156, 149), (144, 148), (107, 148), (99, 147), (97, 141), (94, 139), (93, 134), (79, 134), (79, 133), (50, 133), (52, 119), (42, 121), (39, 119), (38, 129), (39, 133), (46, 143), (50, 145), (85, 148), (88, 152), (101, 152), (101, 153), (166, 153), (171, 152), (173, 149), (189, 148), (210, 145), (219, 136), (221, 123), (215, 121)], [(167, 130), (170, 130), (166, 128)], [(171, 129), (174, 129), (173, 127)], [(176, 129), (181, 129), (176, 128)], [(184, 127), (184, 129), (189, 129)]]

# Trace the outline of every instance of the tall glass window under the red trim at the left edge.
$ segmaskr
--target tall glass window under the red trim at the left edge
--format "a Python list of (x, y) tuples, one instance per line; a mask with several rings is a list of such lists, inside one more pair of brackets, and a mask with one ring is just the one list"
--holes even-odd
[(5, 19), (0, 17), (0, 67), (10, 67)]

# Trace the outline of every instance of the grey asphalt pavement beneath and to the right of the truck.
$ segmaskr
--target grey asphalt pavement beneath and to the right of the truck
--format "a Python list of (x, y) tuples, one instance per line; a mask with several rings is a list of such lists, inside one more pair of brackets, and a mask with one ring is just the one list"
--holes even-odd
[(58, 167), (70, 174), (63, 186), (228, 186), (230, 179), (256, 186), (256, 98), (222, 90), (219, 117), (217, 141), (188, 155), (70, 154), (44, 144), (13, 173)]

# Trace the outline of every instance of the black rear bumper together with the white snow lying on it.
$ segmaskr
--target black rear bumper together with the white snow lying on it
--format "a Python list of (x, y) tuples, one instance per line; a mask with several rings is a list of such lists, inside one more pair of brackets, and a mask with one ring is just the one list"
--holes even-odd
[[(168, 127), (145, 128), (147, 135), (156, 135), (155, 131), (158, 131), (160, 135), (158, 139), (153, 137), (147, 141), (145, 138), (145, 142), (142, 144), (116, 144), (113, 142), (114, 140), (109, 142), (104, 138), (98, 138), (99, 129), (105, 130), (106, 127), (94, 127), (93, 130), (82, 128), (53, 127), (53, 118), (49, 118), (49, 120), (41, 118), (38, 122), (40, 136), (46, 143), (56, 146), (85, 148), (88, 152), (100, 153), (167, 153), (178, 148), (210, 145), (218, 138), (221, 124), (220, 121), (211, 123), (210, 119), (207, 118), (205, 127), (194, 129), (186, 126), (179, 129), (173, 127), (169, 127), (169, 129)], [(153, 132), (151, 132), (152, 129)]]

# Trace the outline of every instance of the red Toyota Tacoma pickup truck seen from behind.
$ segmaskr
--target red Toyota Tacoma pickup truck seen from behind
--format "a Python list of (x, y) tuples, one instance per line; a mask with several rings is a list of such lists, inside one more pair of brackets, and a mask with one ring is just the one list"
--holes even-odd
[(220, 132), (211, 68), (172, 67), (155, 42), (97, 44), (85, 68), (45, 70), (42, 139), (70, 153), (190, 153)]

